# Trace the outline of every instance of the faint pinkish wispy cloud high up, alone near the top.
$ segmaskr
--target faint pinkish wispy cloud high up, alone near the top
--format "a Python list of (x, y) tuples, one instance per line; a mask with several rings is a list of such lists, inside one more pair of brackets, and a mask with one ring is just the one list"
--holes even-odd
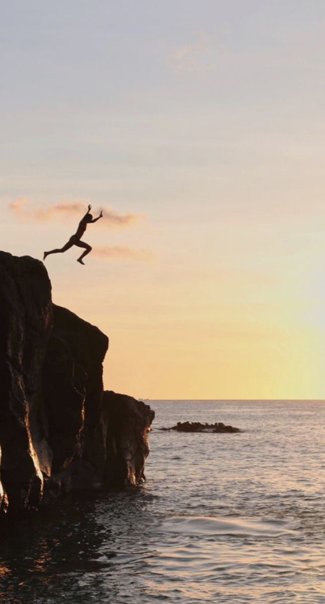
[(175, 72), (214, 71), (217, 59), (210, 36), (201, 32), (196, 42), (175, 48), (169, 55), (169, 65)]

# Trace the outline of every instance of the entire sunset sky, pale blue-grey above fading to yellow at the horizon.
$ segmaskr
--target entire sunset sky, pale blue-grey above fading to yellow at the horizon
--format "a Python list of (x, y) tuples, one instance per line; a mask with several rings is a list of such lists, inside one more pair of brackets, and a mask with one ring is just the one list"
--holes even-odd
[(11, 0), (1, 249), (109, 336), (105, 387), (325, 399), (325, 3)]

